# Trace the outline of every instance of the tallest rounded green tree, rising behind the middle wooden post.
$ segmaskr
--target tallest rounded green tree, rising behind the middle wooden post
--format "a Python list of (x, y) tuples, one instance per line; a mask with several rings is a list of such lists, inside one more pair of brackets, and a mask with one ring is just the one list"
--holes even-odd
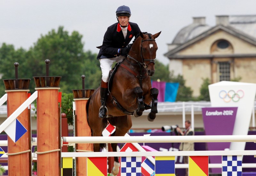
[(62, 76), (61, 91), (70, 92), (77, 89), (79, 78), (82, 75), (84, 61), (84, 43), (82, 35), (73, 31), (71, 35), (62, 26), (57, 31), (52, 29), (46, 35), (41, 35), (33, 47), (30, 48), (29, 60), (35, 66), (34, 76), (44, 76), (45, 60), (50, 60), (49, 76)]

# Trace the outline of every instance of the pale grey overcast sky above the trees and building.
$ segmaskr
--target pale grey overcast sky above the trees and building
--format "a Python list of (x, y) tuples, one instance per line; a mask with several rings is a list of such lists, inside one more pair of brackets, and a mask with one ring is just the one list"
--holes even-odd
[[(125, 2), (125, 3), (124, 3)], [(64, 26), (83, 35), (84, 50), (98, 53), (108, 26), (117, 22), (116, 9), (130, 7), (131, 22), (141, 31), (155, 34), (156, 58), (165, 65), (167, 44), (193, 17), (206, 17), (215, 25), (216, 15), (254, 15), (256, 0), (0, 0), (0, 46), (13, 44), (29, 49), (41, 35)]]

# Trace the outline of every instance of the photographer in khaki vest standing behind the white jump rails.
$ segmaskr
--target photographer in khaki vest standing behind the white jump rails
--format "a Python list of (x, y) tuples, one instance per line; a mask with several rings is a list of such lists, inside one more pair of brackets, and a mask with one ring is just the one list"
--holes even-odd
[[(182, 132), (179, 127), (176, 128), (178, 135), (180, 136), (193, 136), (195, 132), (190, 128), (191, 122), (189, 120), (185, 121), (185, 131)], [(180, 151), (194, 151), (194, 142), (181, 142)], [(183, 156), (184, 164), (188, 164), (188, 156)], [(188, 176), (188, 168), (186, 168), (186, 176)]]

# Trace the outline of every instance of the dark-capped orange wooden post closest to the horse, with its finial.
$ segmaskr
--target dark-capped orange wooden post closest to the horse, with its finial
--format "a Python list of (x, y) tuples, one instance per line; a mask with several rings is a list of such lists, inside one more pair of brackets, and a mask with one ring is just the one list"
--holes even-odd
[[(91, 136), (91, 128), (86, 119), (86, 102), (94, 92), (94, 89), (84, 89), (82, 75), (82, 89), (72, 90), (75, 101), (74, 136)], [(92, 152), (93, 144), (76, 144), (75, 152)], [(76, 176), (87, 176), (87, 157), (76, 157)]]

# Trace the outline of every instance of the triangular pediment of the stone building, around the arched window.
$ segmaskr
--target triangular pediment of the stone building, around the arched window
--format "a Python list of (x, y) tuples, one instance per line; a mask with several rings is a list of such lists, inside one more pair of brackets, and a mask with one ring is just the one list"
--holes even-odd
[[(234, 48), (233, 52), (212, 52), (211, 47), (217, 40), (227, 40)], [(240, 48), (240, 49), (239, 49)], [(223, 50), (224, 51), (224, 50)], [(255, 56), (256, 38), (231, 26), (217, 25), (195, 36), (187, 42), (176, 45), (164, 54), (168, 58), (191, 58), (191, 57), (223, 57), (247, 55)]]

